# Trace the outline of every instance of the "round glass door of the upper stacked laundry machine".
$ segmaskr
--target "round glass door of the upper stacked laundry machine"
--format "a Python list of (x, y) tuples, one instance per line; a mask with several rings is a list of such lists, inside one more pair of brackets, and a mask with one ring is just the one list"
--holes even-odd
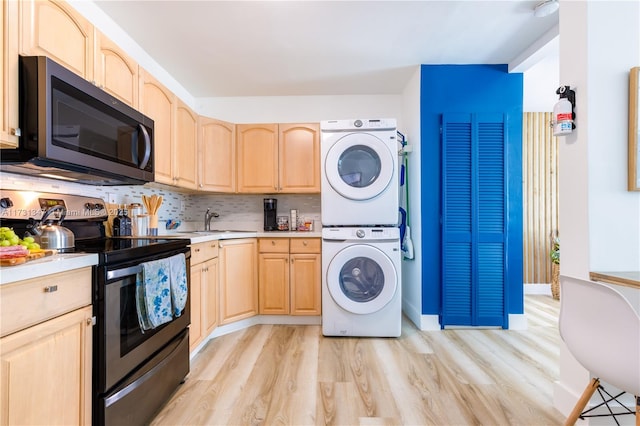
[(389, 186), (394, 161), (379, 138), (369, 133), (350, 133), (329, 149), (324, 167), (336, 192), (350, 200), (368, 200)]

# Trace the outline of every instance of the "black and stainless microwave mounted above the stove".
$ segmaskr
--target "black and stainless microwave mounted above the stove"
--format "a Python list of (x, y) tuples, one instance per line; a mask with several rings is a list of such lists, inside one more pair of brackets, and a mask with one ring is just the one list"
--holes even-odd
[(153, 120), (45, 56), (21, 56), (20, 137), (3, 172), (92, 185), (154, 180)]

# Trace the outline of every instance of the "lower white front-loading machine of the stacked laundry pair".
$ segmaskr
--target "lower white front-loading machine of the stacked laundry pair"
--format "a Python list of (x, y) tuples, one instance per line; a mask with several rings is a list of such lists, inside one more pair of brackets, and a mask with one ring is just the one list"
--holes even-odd
[(402, 324), (400, 230), (322, 229), (322, 334), (398, 337)]

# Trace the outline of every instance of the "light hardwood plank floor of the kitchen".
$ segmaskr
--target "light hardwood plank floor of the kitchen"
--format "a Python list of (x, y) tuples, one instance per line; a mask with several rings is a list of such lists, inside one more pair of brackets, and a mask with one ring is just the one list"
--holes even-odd
[(528, 295), (528, 329), (327, 338), (259, 325), (210, 341), (155, 425), (559, 425), (559, 302)]

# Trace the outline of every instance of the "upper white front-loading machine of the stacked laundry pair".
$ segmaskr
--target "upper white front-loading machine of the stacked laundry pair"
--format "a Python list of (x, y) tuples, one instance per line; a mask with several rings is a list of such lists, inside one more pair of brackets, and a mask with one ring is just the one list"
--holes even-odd
[(323, 226), (398, 224), (395, 119), (322, 121)]

